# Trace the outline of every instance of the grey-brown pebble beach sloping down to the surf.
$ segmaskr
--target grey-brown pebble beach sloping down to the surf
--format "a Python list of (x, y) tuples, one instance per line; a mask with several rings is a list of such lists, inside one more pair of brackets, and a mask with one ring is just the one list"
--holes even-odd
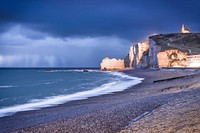
[(114, 94), (0, 118), (0, 132), (199, 132), (200, 70), (128, 70), (145, 78)]

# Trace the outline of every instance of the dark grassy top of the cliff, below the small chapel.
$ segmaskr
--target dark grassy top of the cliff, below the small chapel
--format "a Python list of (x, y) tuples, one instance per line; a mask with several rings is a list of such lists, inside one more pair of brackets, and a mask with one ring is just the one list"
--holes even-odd
[(161, 51), (179, 49), (189, 54), (200, 54), (200, 33), (159, 34), (149, 38), (161, 45)]

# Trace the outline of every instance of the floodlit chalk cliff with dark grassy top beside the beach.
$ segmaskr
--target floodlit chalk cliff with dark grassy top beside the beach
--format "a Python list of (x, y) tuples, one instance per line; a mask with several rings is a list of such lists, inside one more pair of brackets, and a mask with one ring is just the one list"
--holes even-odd
[(126, 68), (200, 68), (200, 33), (175, 33), (150, 36), (132, 45), (124, 59), (101, 62), (101, 70)]

